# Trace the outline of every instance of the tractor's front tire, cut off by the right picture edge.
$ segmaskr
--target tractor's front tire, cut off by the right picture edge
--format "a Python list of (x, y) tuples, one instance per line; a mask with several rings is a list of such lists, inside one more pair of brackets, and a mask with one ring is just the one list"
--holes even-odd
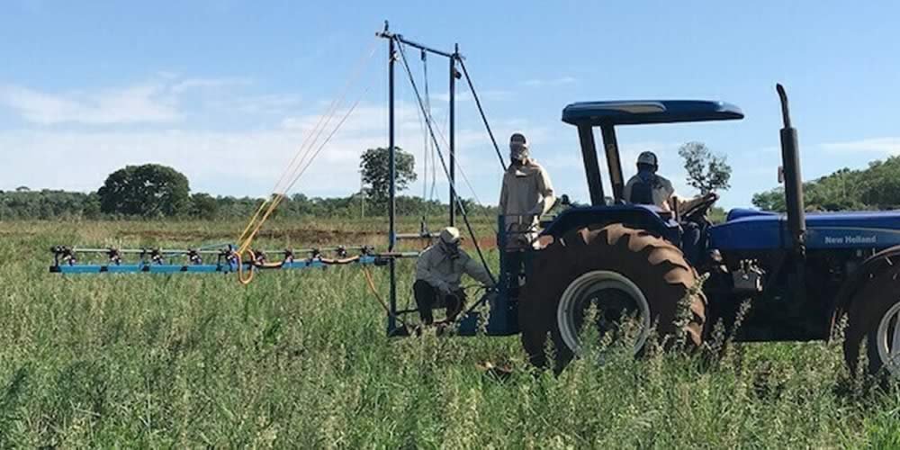
[(852, 296), (843, 345), (851, 374), (859, 369), (863, 343), (864, 373), (900, 377), (900, 268), (872, 276)]

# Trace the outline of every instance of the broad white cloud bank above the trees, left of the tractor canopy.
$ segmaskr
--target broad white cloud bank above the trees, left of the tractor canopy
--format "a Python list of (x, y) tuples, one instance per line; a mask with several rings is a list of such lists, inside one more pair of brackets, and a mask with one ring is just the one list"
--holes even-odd
[[(11, 108), (25, 122), (20, 129), (0, 129), (0, 166), (8, 174), (0, 179), (0, 189), (28, 185), (92, 191), (121, 166), (158, 163), (184, 172), (195, 192), (266, 195), (329, 102), (307, 104), (301, 110), (297, 95), (248, 95), (230, 89), (250, 84), (252, 81), (238, 77), (157, 73), (142, 84), (63, 93), (0, 85), (0, 108)], [(485, 91), (482, 95), (500, 100), (509, 94)], [(460, 98), (471, 99), (465, 92)], [(318, 110), (315, 114), (311, 106)], [(408, 193), (421, 194), (425, 135), (419, 106), (400, 101), (396, 107), (397, 145), (416, 157), (420, 177)], [(210, 127), (206, 112), (239, 112), (237, 117), (224, 116), (226, 120), (237, 119), (238, 126), (217, 129), (214, 125), (223, 116), (216, 115)], [(317, 150), (345, 112), (347, 105), (320, 134), (318, 144), (309, 148)], [(433, 104), (437, 139), (445, 152), (446, 112), (446, 103)], [(468, 177), (482, 201), (496, 202), (500, 166), (481, 121), (477, 116), (469, 119), (457, 122), (458, 171)], [(247, 121), (253, 125), (247, 126)], [(527, 130), (542, 157), (559, 148), (550, 138), (550, 130), (531, 127), (527, 121), (497, 118), (491, 123), (504, 157), (507, 136), (515, 130)], [(360, 103), (290, 192), (321, 196), (356, 192), (359, 155), (366, 148), (386, 145), (387, 112), (383, 104)], [(577, 153), (572, 156), (577, 158)], [(429, 165), (437, 166), (436, 192), (438, 198), (446, 200), (444, 171), (437, 161)], [(460, 183), (461, 193), (473, 196), (464, 182)]]

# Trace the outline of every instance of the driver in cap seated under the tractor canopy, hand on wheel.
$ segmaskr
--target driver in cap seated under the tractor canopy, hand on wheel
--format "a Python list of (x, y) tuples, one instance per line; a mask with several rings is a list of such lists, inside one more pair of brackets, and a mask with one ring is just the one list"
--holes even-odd
[(653, 204), (662, 211), (690, 211), (701, 202), (718, 198), (716, 193), (707, 193), (685, 200), (675, 193), (671, 181), (658, 175), (659, 160), (652, 151), (645, 151), (637, 157), (637, 175), (632, 176), (622, 196), (626, 202)]

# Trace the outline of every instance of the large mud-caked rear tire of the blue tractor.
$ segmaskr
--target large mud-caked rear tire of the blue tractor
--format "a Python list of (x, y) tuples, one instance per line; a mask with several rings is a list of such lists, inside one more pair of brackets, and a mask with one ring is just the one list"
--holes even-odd
[[(609, 299), (626, 293), (640, 316), (649, 311), (640, 318), (645, 331), (655, 326), (660, 338), (675, 334), (679, 304), (684, 300), (689, 304), (683, 326), (687, 341), (693, 346), (702, 344), (707, 301), (702, 292), (693, 289), (698, 283), (697, 271), (678, 247), (643, 229), (615, 224), (572, 231), (542, 250), (532, 269), (519, 298), (519, 326), (533, 365), (546, 365), (548, 336), (553, 338), (555, 370), (568, 365), (579, 343), (577, 336), (573, 342), (573, 327), (566, 324), (574, 322), (567, 318), (572, 311), (583, 310), (585, 296), (596, 295), (588, 300), (594, 302), (599, 293)], [(580, 292), (582, 300), (573, 297)], [(635, 355), (644, 342), (640, 338), (635, 342)]]

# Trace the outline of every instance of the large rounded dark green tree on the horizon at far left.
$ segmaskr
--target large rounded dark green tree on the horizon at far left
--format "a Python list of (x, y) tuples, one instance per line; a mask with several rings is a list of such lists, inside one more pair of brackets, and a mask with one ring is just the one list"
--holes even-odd
[(158, 164), (125, 166), (112, 172), (97, 191), (101, 211), (145, 217), (187, 212), (189, 192), (187, 177)]

